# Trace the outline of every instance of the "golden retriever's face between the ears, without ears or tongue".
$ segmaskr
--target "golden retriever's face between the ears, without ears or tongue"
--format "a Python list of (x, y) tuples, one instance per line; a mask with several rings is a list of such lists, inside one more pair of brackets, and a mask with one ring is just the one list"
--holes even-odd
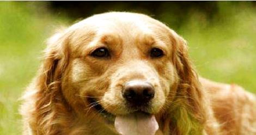
[(161, 22), (141, 14), (107, 13), (78, 22), (68, 32), (62, 91), (80, 114), (157, 114), (172, 99), (178, 35)]

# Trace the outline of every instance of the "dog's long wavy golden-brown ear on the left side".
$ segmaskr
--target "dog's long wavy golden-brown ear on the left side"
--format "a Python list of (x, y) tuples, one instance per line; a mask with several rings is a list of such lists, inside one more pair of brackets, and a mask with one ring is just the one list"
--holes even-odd
[[(53, 121), (65, 112), (65, 100), (61, 91), (62, 73), (68, 64), (67, 40), (61, 34), (54, 35), (45, 50), (45, 57), (35, 80), (35, 122), (39, 134), (57, 134), (58, 122)], [(58, 110), (58, 111), (57, 111)]]

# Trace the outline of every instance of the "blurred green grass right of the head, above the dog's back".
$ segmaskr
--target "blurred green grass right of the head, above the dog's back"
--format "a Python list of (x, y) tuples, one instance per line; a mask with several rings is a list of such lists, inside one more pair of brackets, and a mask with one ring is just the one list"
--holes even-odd
[(219, 2), (211, 23), (200, 13), (179, 29), (188, 41), (194, 64), (203, 77), (242, 85), (256, 92), (256, 9), (248, 3)]

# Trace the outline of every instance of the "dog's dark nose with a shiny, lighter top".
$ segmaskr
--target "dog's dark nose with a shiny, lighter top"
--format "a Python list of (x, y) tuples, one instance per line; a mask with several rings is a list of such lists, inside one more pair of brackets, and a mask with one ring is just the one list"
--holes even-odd
[(126, 83), (123, 89), (123, 97), (133, 105), (148, 103), (153, 99), (155, 90), (150, 83), (131, 81)]

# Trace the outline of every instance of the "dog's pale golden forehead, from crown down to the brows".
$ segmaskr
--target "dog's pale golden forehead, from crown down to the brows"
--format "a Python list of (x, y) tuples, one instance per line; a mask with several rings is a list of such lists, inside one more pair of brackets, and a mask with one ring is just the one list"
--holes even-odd
[(74, 42), (85, 39), (81, 37), (88, 37), (88, 35), (91, 38), (86, 39), (91, 39), (91, 41), (101, 41), (115, 45), (120, 42), (153, 45), (159, 41), (169, 44), (170, 41), (170, 29), (163, 23), (143, 14), (99, 14), (78, 22), (72, 27), (77, 33), (73, 37)]

